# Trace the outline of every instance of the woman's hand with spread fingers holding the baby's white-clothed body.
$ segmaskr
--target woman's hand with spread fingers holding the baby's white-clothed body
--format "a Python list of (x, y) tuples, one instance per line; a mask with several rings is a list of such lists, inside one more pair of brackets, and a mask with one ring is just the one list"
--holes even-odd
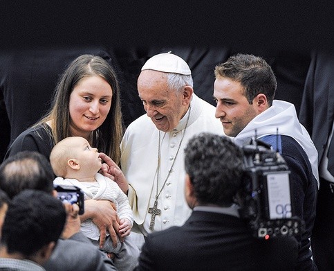
[[(109, 200), (85, 200), (82, 221), (91, 218), (93, 223), (100, 229), (100, 247), (106, 241), (106, 231), (109, 231), (113, 246), (117, 246), (117, 235), (120, 227), (120, 218), (115, 211), (115, 204)], [(122, 241), (120, 234), (119, 237)]]

